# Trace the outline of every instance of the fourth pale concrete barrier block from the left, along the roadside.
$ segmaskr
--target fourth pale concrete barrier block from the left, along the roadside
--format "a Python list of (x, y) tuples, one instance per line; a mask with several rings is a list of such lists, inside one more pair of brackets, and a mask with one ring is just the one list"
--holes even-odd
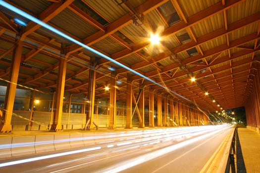
[(55, 150), (71, 148), (69, 134), (54, 134), (54, 148)]

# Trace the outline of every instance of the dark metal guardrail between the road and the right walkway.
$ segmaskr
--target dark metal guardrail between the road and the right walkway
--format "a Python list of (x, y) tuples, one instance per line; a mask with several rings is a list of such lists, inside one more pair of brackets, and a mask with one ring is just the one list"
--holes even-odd
[(230, 145), (229, 157), (227, 160), (225, 173), (230, 173), (230, 168), (231, 168), (231, 173), (236, 173), (235, 158), (234, 158), (234, 154), (236, 154), (236, 137), (237, 137), (237, 127), (234, 130), (232, 142)]

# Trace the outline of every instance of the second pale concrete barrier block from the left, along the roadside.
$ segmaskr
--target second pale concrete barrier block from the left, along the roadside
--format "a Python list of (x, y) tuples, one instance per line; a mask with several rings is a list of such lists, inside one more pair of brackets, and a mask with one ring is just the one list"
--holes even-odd
[(15, 136), (12, 138), (12, 157), (35, 154), (35, 136)]

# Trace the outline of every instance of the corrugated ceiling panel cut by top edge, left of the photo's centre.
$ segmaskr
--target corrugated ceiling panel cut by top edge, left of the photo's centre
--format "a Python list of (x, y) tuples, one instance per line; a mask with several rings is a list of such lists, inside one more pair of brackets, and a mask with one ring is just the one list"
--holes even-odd
[[(125, 11), (120, 8), (114, 0), (85, 0), (94, 10), (99, 11), (106, 20), (110, 23), (119, 19), (125, 14)], [(119, 1), (118, 1), (119, 2)]]

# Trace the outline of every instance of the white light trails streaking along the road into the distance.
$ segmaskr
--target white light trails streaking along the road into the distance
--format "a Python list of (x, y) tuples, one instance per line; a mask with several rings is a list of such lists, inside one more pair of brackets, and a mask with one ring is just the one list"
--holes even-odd
[[(84, 172), (86, 169), (89, 172), (121, 172), (148, 163), (167, 153), (179, 151), (192, 143), (203, 141), (183, 153), (196, 150), (212, 136), (230, 128), (230, 125), (218, 125), (114, 132), (107, 133), (107, 137), (103, 140), (100, 138), (104, 136), (103, 133), (100, 136), (95, 134), (99, 140), (93, 146), (38, 157), (32, 155), (31, 158), (14, 161), (0, 160), (0, 167), (9, 173), (17, 168), (20, 172), (27, 173)], [(110, 163), (110, 160), (115, 162)], [(30, 168), (26, 167), (28, 163), (31, 165)]]

